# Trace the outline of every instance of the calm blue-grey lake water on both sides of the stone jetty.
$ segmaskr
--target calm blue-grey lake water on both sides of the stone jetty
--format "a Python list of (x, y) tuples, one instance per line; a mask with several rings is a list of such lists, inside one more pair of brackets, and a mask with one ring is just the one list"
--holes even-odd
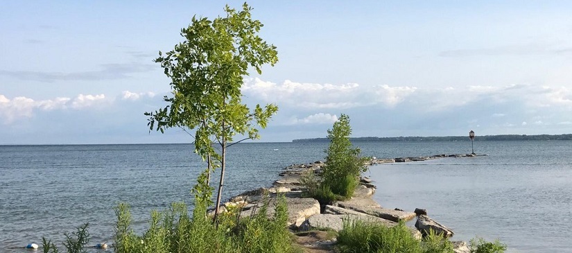
[[(363, 155), (470, 152), (469, 142), (354, 143)], [(270, 186), (289, 164), (323, 159), (327, 143), (240, 143), (229, 150), (223, 198)], [(572, 141), (476, 142), (488, 157), (371, 166), (374, 198), (413, 210), (456, 232), (501, 238), (511, 252), (572, 252)], [(277, 150), (275, 150), (277, 149)], [(0, 252), (89, 222), (91, 243), (111, 243), (117, 202), (132, 207), (136, 231), (148, 213), (191, 202), (200, 168), (190, 145), (0, 146)]]

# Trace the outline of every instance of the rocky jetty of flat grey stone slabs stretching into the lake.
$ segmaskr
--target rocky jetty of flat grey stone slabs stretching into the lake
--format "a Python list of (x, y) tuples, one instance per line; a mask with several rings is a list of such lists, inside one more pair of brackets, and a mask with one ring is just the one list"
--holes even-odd
[[(482, 155), (433, 155), (431, 157), (397, 157), (391, 159), (372, 157), (367, 164), (417, 162), (442, 157), (476, 156)], [(324, 162), (321, 161), (287, 166), (284, 168), (284, 171), (279, 173), (279, 179), (272, 184), (272, 187), (245, 191), (230, 198), (220, 208), (225, 211), (225, 209), (230, 207), (239, 207), (242, 210), (241, 216), (248, 217), (259, 210), (258, 207), (262, 202), (261, 200), (268, 199), (272, 207), (272, 204), (277, 201), (278, 193), (284, 194), (286, 196), (286, 204), (288, 205), (288, 227), (292, 232), (296, 232), (297, 243), (300, 244), (304, 252), (333, 252), (336, 238), (331, 238), (324, 230), (339, 232), (343, 227), (343, 218), (367, 220), (388, 227), (397, 225), (399, 221), (417, 218), (415, 227), (409, 227), (411, 234), (415, 238), (420, 240), (422, 236), (428, 233), (429, 229), (433, 229), (437, 234), (442, 234), (446, 237), (453, 236), (454, 233), (451, 229), (429, 218), (427, 211), (424, 209), (404, 211), (382, 207), (372, 198), (376, 186), (368, 177), (360, 178), (360, 185), (356, 189), (354, 196), (349, 200), (320, 206), (318, 200), (303, 198), (302, 191), (304, 186), (300, 183), (300, 176), (309, 170), (319, 175), (322, 166), (324, 166)], [(268, 211), (270, 212), (269, 215), (271, 215), (274, 210), (270, 208)], [(457, 253), (469, 252), (469, 247), (467, 247), (465, 241), (453, 241), (453, 245)]]

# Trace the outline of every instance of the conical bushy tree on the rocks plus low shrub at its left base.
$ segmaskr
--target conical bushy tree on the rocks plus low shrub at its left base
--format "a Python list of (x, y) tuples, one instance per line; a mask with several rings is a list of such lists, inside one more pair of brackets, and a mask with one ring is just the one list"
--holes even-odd
[(359, 184), (359, 175), (367, 170), (365, 159), (360, 157), (359, 148), (349, 141), (352, 128), (349, 116), (341, 114), (340, 119), (328, 130), (330, 144), (326, 152), (326, 165), (322, 168), (322, 178), (315, 177), (313, 171), (302, 175), (300, 182), (306, 186), (306, 195), (317, 199), (320, 204), (331, 204), (335, 200), (352, 198)]

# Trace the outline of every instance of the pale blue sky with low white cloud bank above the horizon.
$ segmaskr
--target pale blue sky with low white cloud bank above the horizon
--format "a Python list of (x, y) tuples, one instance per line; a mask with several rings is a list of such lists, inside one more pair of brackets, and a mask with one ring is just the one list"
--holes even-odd
[[(571, 1), (249, 1), (279, 62), (245, 76), (275, 103), (259, 141), (572, 132)], [(153, 62), (191, 17), (241, 1), (1, 1), (0, 144), (185, 143), (149, 131)]]

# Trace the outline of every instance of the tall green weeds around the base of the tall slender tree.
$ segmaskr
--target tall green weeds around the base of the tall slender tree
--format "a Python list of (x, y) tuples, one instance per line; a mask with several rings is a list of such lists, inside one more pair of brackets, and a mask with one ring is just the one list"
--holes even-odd
[(281, 196), (273, 216), (268, 216), (269, 201), (249, 218), (236, 213), (219, 216), (218, 227), (206, 215), (206, 205), (197, 206), (193, 217), (187, 206), (172, 204), (168, 211), (151, 213), (150, 227), (138, 236), (130, 229), (128, 206), (116, 207), (115, 252), (293, 252), (290, 232), (286, 229), (288, 208)]

